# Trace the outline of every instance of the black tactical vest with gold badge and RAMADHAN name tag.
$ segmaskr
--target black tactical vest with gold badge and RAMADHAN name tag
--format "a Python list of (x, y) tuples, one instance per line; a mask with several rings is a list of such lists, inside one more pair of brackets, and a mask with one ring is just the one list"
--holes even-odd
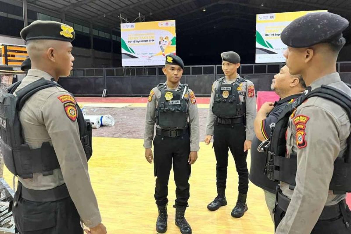
[(185, 129), (188, 125), (188, 85), (180, 85), (177, 90), (172, 91), (160, 83), (157, 88), (161, 97), (156, 108), (156, 124), (162, 128)]

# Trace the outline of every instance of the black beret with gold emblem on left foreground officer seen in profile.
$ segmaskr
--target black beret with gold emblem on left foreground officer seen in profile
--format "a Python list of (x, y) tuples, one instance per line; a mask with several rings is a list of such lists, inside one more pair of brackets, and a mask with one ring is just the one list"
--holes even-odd
[(56, 21), (36, 20), (21, 31), (25, 41), (30, 40), (58, 40), (73, 41), (75, 32), (71, 26)]

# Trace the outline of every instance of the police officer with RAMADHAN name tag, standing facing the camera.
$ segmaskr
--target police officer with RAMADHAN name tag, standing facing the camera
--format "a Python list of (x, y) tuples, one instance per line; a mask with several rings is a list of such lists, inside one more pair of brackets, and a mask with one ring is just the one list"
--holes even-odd
[[(154, 159), (156, 178), (155, 199), (159, 216), (156, 230), (167, 230), (168, 179), (172, 168), (176, 182), (176, 225), (182, 234), (192, 233), (184, 214), (188, 206), (189, 177), (191, 165), (197, 160), (199, 151), (199, 115), (195, 94), (187, 85), (180, 83), (184, 63), (176, 55), (166, 55), (166, 82), (153, 88), (148, 97), (144, 147), (145, 158), (151, 163)], [(189, 122), (187, 121), (189, 119)], [(156, 136), (154, 126), (156, 123)], [(153, 139), (154, 158), (151, 143)]]

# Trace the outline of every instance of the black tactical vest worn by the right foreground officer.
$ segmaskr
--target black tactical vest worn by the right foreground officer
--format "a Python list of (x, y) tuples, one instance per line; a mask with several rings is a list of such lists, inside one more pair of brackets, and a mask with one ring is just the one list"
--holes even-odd
[[(351, 98), (342, 91), (322, 85), (322, 87), (302, 95), (292, 105), (287, 106), (274, 127), (272, 132), (269, 151), (267, 152), (266, 174), (270, 180), (289, 183), (289, 188), (296, 185), (297, 155), (291, 154), (286, 158), (286, 130), (289, 118), (293, 111), (308, 98), (318, 96), (335, 102), (345, 109), (351, 120)], [(347, 149), (343, 157), (338, 157), (334, 162), (334, 172), (329, 184), (329, 190), (334, 194), (351, 192), (351, 134), (347, 138)], [(327, 153), (327, 152), (326, 152)]]

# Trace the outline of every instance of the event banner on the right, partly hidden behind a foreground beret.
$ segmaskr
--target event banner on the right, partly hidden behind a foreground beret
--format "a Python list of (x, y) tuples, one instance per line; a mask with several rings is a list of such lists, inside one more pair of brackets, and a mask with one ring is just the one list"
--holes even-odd
[(285, 62), (283, 56), (287, 46), (280, 40), (280, 34), (294, 19), (321, 11), (299, 11), (256, 16), (256, 63)]

